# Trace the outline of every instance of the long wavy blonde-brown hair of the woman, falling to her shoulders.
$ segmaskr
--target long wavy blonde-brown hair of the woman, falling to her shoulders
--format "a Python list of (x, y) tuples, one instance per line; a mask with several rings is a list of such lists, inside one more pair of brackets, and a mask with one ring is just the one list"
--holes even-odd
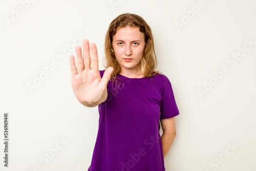
[[(116, 79), (116, 75), (121, 71), (121, 67), (116, 59), (114, 49), (112, 47), (113, 35), (117, 30), (123, 27), (138, 27), (141, 33), (144, 33), (145, 48), (140, 60), (141, 71), (145, 77), (152, 77), (157, 73), (162, 74), (160, 71), (155, 71), (157, 67), (157, 58), (154, 47), (154, 39), (150, 26), (147, 25), (145, 20), (136, 14), (123, 13), (117, 16), (110, 24), (105, 37), (105, 68), (113, 67), (114, 71), (111, 75), (112, 83)], [(118, 81), (117, 81), (118, 82)]]

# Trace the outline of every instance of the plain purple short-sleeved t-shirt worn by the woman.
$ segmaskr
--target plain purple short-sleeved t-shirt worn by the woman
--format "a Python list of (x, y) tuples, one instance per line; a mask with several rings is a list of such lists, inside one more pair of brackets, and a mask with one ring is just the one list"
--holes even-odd
[(179, 115), (179, 110), (169, 79), (159, 73), (152, 78), (117, 74), (117, 91), (109, 81), (108, 98), (98, 106), (89, 171), (165, 170), (159, 121)]

